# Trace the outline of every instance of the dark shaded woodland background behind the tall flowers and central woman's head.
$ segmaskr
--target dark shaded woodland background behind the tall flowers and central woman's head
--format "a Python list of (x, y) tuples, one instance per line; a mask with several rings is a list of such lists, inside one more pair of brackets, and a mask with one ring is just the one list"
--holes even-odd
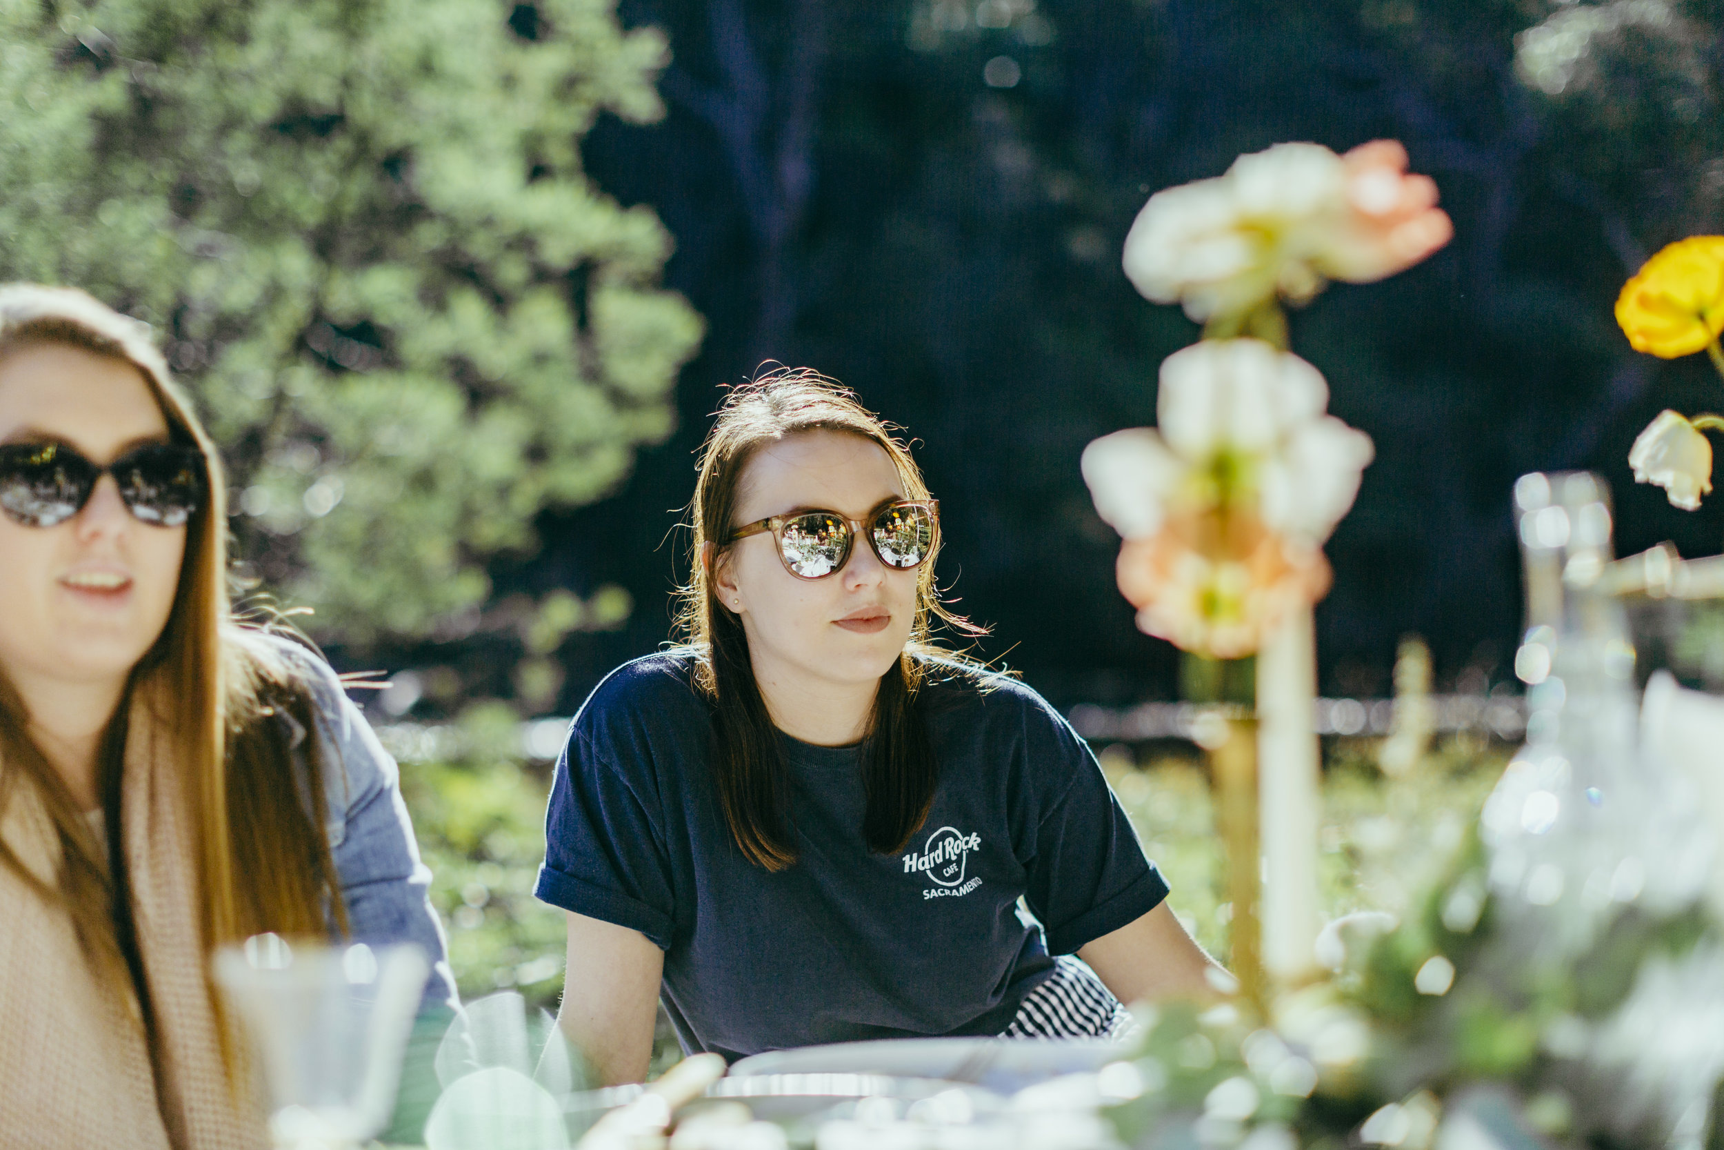
[[(495, 572), (498, 590), (634, 597), (624, 631), (562, 648), (564, 712), (669, 636), (693, 450), (721, 388), (764, 360), (841, 379), (921, 441), (941, 581), (995, 628), (981, 653), (1059, 705), (1171, 697), (1176, 653), (1133, 628), (1117, 538), (1078, 471), (1090, 440), (1153, 422), (1159, 362), (1198, 336), (1133, 291), (1121, 245), (1152, 191), (1286, 140), (1402, 140), (1457, 231), (1426, 264), (1291, 316), (1331, 412), (1377, 450), (1327, 548), (1321, 690), (1388, 691), (1410, 633), (1440, 688), (1467, 667), (1512, 678), (1508, 490), (1526, 471), (1602, 471), (1622, 553), (1665, 538), (1717, 550), (1715, 503), (1669, 507), (1633, 484), (1626, 453), (1662, 407), (1717, 407), (1719, 379), (1703, 355), (1636, 355), (1612, 321), (1650, 252), (1719, 229), (1715, 5), (1595, 38), (1560, 95), (1515, 76), (1515, 34), (1553, 3), (983, 7), (1009, 24), (978, 28), (967, 3), (621, 5), (626, 26), (669, 34), (671, 110), (602, 121), (586, 166), (662, 216), (678, 241), (665, 283), (709, 334), (676, 434), (614, 497), (547, 516), (536, 559)], [(996, 57), (1015, 86), (984, 83)]]

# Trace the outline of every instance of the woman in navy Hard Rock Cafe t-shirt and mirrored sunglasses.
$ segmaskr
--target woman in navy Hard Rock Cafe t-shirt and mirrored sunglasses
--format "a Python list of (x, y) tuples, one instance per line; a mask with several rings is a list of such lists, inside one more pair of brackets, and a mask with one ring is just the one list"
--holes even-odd
[(850, 393), (733, 391), (691, 517), (688, 643), (593, 691), (547, 816), (559, 1017), (607, 1081), (645, 1074), (660, 995), (686, 1050), (738, 1059), (1110, 1034), (1121, 1000), (1214, 993), (1084, 743), (929, 641), (978, 633), (936, 598), (940, 509)]

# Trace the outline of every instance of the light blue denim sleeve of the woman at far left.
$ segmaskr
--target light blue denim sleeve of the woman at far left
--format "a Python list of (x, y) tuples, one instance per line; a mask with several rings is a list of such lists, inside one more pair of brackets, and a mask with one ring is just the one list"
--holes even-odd
[(286, 653), (317, 710), (324, 828), (347, 903), (347, 941), (417, 945), (431, 962), (421, 1010), (459, 1007), (448, 941), (431, 907), (431, 869), (419, 859), (395, 759), (322, 659), (288, 640), (271, 641), (291, 648)]

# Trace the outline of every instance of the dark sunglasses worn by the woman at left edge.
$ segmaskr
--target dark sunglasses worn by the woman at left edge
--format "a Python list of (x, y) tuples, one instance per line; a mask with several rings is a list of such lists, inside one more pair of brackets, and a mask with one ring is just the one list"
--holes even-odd
[(203, 455), (190, 447), (147, 443), (98, 467), (64, 443), (0, 447), (0, 510), (26, 528), (52, 528), (84, 509), (102, 476), (138, 522), (178, 528), (203, 505)]

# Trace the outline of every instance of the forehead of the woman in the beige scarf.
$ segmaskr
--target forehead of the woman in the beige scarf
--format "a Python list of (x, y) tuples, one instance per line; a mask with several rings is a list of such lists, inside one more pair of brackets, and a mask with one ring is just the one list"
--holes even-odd
[(59, 343), (0, 357), (0, 441), (52, 438), (103, 459), (167, 433), (155, 395), (126, 360)]

